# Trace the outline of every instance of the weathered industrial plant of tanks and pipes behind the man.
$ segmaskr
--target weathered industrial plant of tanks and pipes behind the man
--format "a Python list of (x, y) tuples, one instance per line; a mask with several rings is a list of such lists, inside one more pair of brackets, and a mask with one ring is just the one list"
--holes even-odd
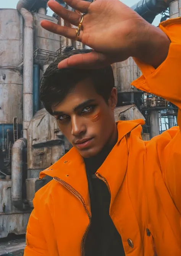
[[(41, 20), (70, 26), (56, 14), (47, 16), (47, 0), (19, 0), (17, 9), (0, 9), (0, 238), (26, 233), (35, 192), (48, 179), (40, 171), (71, 148), (56, 119), (39, 101), (40, 79), (48, 65), (80, 42), (50, 33)], [(71, 9), (63, 2), (61, 5)], [(181, 0), (141, 0), (132, 7), (152, 23), (181, 16)], [(131, 86), (141, 71), (133, 58), (113, 64), (118, 90), (117, 120), (145, 119), (142, 138), (149, 140), (177, 125), (172, 103)], [(0, 248), (1, 248), (0, 240)], [(0, 255), (6, 253), (6, 246)]]

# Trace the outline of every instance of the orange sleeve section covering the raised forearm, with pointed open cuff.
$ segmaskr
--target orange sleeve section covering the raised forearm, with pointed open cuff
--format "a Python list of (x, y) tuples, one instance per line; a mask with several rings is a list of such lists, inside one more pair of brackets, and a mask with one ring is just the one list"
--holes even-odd
[(132, 85), (178, 106), (178, 125), (181, 127), (181, 18), (165, 21), (160, 24), (160, 29), (171, 41), (168, 55), (157, 69), (136, 58), (135, 61), (143, 75)]

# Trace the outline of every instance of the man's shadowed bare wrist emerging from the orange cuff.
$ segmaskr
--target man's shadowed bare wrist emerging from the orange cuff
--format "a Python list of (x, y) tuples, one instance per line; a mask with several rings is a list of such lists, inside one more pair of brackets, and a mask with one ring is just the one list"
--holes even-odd
[(166, 59), (170, 43), (170, 39), (160, 28), (146, 24), (142, 36), (139, 35), (137, 39), (133, 57), (157, 68)]

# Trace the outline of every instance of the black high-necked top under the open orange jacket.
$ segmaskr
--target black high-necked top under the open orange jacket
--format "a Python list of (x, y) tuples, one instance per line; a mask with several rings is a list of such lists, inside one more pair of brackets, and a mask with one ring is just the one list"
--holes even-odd
[(106, 184), (94, 175), (115, 143), (105, 146), (95, 157), (84, 158), (92, 214), (91, 227), (85, 241), (85, 256), (125, 255), (121, 236), (109, 215), (110, 193)]

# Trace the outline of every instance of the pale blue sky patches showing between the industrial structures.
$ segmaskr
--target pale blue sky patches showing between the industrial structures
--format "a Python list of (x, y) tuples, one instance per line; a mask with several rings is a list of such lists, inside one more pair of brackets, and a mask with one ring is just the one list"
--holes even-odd
[[(122, 0), (121, 2), (125, 3), (128, 6), (132, 6), (135, 3), (139, 2), (139, 0)], [(16, 8), (16, 4), (18, 3), (18, 0), (0, 0), (0, 8)], [(49, 9), (48, 15), (52, 16), (53, 12)], [(157, 26), (160, 23), (161, 16), (157, 15), (157, 17), (154, 20), (154, 25)]]

